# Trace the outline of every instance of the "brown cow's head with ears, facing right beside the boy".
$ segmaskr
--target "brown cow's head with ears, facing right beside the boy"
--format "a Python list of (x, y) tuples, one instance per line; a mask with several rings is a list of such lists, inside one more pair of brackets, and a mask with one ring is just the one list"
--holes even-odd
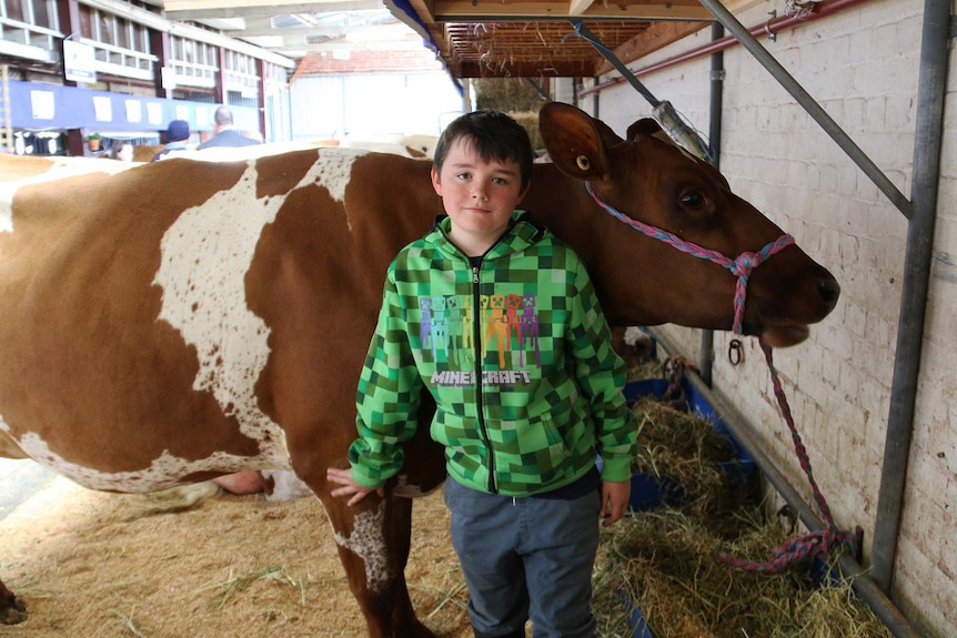
[[(583, 111), (553, 102), (542, 109), (540, 126), (556, 168), (594, 192), (595, 211), (604, 203), (638, 222), (604, 211), (588, 222), (597, 229), (590, 234), (594, 230), (601, 251), (583, 256), (613, 325), (668, 322), (731, 330), (736, 287), (739, 302), (739, 284), (746, 283), (741, 332), (783, 347), (804, 341), (807, 326), (834, 310), (837, 282), (793, 244), (776, 246), (744, 282), (731, 266), (694, 254), (705, 249), (733, 262), (774, 245), (784, 233), (653, 120), (635, 122), (622, 140)], [(653, 230), (634, 230), (642, 224)], [(685, 252), (676, 243), (684, 243)]]

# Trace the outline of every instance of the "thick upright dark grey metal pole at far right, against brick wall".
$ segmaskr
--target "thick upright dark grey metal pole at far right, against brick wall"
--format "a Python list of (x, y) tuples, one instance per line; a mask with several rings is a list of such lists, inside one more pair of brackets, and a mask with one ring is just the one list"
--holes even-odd
[(934, 222), (944, 136), (947, 89), (947, 39), (950, 0), (925, 0), (914, 140), (914, 209), (907, 226), (907, 252), (897, 322), (897, 351), (890, 386), (890, 411), (872, 548), (872, 576), (887, 593), (894, 576), (900, 510), (914, 428), (914, 404), (920, 373), (924, 314), (934, 249)]

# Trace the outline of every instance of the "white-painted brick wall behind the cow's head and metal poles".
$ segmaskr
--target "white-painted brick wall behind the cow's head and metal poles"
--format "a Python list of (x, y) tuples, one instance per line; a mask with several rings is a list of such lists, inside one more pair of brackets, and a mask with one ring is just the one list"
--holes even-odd
[[(775, 8), (783, 12), (783, 3)], [(739, 16), (767, 20), (762, 3)], [(909, 199), (923, 26), (920, 0), (874, 0), (778, 34), (763, 44)], [(637, 69), (706, 43), (708, 29), (629, 64)], [(815, 478), (843, 527), (874, 535), (900, 312), (907, 220), (796, 101), (742, 47), (727, 71), (722, 172), (739, 195), (790, 232), (843, 287), (834, 313), (775, 365), (808, 448)], [(642, 77), (699, 131), (708, 130), (709, 60)], [(934, 263), (894, 601), (931, 636), (957, 636), (957, 54), (950, 47), (946, 131)], [(591, 111), (592, 98), (581, 104)], [(627, 83), (600, 97), (618, 134), (652, 112)], [(731, 304), (731, 300), (728, 300)], [(693, 361), (699, 331), (665, 326)], [(764, 452), (812, 503), (755, 340), (745, 361), (715, 335), (714, 387), (745, 415)]]

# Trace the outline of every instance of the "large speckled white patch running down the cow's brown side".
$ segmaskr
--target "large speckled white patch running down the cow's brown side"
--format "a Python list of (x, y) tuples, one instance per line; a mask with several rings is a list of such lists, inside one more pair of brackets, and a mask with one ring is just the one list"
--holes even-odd
[[(319, 184), (343, 202), (353, 162), (362, 151), (320, 153), (293, 191)], [(283, 196), (256, 198), (256, 164), (203, 204), (183, 211), (163, 235), (153, 280), (163, 290), (159, 318), (197, 348), (198, 392), (209, 392), (240, 432), (261, 443), (266, 467), (288, 467), (285, 435), (258, 405), (254, 386), (270, 356), (270, 328), (248, 307), (245, 275), (262, 230), (275, 220)]]

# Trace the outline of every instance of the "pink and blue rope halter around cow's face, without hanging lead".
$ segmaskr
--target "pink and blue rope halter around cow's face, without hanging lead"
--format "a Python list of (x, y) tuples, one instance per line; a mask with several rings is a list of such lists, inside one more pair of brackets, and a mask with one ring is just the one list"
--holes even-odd
[(768, 243), (766, 246), (764, 246), (756, 253), (743, 252), (736, 259), (732, 260), (731, 257), (727, 257), (717, 251), (704, 249), (692, 242), (686, 242), (685, 240), (673, 233), (663, 231), (662, 229), (652, 226), (644, 222), (633, 220), (632, 217), (605, 203), (605, 201), (600, 198), (597, 193), (595, 193), (595, 191), (592, 189), (592, 184), (590, 182), (585, 182), (585, 189), (588, 191), (588, 194), (592, 195), (592, 199), (595, 200), (595, 203), (605, 209), (616, 220), (628, 224), (636, 231), (652, 239), (661, 240), (669, 246), (682, 251), (683, 253), (687, 253), (692, 256), (707, 260), (709, 262), (714, 262), (721, 266), (724, 266), (729, 270), (733, 275), (737, 276), (737, 284), (735, 284), (734, 295), (734, 325), (732, 326), (735, 334), (742, 334), (742, 323), (744, 322), (744, 300), (745, 295), (747, 294), (747, 280), (751, 276), (752, 271), (754, 271), (754, 269), (756, 269), (769, 256), (779, 253), (782, 250), (794, 243), (793, 236), (784, 234), (775, 241)]

